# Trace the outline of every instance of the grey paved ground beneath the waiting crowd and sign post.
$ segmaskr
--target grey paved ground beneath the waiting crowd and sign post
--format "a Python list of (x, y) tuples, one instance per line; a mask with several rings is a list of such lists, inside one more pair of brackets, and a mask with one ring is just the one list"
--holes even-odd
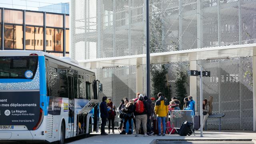
[[(116, 130), (116, 134), (109, 134), (101, 136), (99, 133), (94, 133), (89, 138), (82, 138), (80, 140), (71, 139), (67, 140), (67, 144), (167, 144), (167, 143), (182, 143), (182, 144), (217, 144), (217, 143), (230, 143), (230, 144), (253, 144), (251, 139), (256, 139), (256, 132), (228, 132), (228, 131), (206, 131), (204, 137), (200, 137), (200, 132), (196, 131), (196, 136), (179, 136), (179, 135), (166, 135), (166, 136), (149, 136), (134, 137), (132, 135), (120, 135)], [(159, 140), (159, 141), (156, 141)], [(162, 141), (161, 141), (162, 140)], [(170, 141), (171, 140), (171, 141)], [(203, 142), (202, 142), (203, 140)], [(221, 140), (221, 141), (220, 141)], [(225, 140), (225, 141), (223, 141)], [(229, 141), (227, 141), (229, 140)], [(242, 141), (241, 141), (242, 140)], [(250, 140), (250, 142), (248, 141)], [(170, 142), (169, 142), (170, 141)], [(215, 142), (215, 143), (214, 143)], [(256, 143), (255, 143), (256, 144)]]

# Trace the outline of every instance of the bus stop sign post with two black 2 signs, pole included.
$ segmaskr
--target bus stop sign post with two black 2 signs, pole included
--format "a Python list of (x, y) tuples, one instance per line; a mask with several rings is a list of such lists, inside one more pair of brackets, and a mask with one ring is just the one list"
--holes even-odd
[(189, 76), (200, 76), (200, 136), (203, 137), (203, 76), (210, 76), (210, 71), (203, 71), (200, 66), (200, 71), (188, 70)]

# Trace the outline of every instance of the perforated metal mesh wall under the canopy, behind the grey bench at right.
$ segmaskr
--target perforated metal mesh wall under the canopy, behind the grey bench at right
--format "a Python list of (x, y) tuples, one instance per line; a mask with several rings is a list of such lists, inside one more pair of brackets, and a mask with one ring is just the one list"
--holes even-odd
[[(203, 98), (213, 96), (212, 113), (225, 114), (223, 130), (253, 130), (252, 57), (225, 60), (200, 60), (203, 70), (211, 72), (203, 78)], [(200, 110), (199, 78), (197, 109)], [(198, 111), (199, 112), (199, 111)], [(208, 118), (207, 127), (218, 130), (218, 119)]]

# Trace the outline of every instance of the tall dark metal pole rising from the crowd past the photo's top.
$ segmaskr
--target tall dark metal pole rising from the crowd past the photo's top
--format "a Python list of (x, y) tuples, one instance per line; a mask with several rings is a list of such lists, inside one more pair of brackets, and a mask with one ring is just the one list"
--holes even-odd
[(149, 0), (146, 0), (146, 33), (147, 96), (150, 98)]

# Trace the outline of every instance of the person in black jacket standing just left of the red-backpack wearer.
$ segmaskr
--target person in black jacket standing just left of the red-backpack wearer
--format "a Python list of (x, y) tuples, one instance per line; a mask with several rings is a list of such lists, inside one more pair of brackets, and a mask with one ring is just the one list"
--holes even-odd
[(124, 113), (126, 113), (126, 117), (124, 118), (124, 128), (120, 134), (126, 134), (126, 122), (129, 122), (129, 131), (127, 134), (132, 134), (132, 117), (134, 112), (134, 100), (130, 100), (129, 103), (126, 104), (125, 108), (122, 109)]

